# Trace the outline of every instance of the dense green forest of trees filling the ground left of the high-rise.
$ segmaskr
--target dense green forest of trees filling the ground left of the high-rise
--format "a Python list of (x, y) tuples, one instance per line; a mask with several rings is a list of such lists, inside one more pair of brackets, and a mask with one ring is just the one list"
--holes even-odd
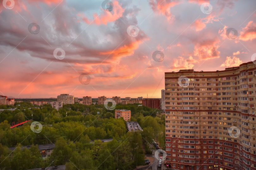
[[(20, 105), (20, 106), (18, 106)], [(66, 165), (66, 169), (133, 169), (143, 165), (144, 154), (152, 151), (152, 139), (165, 147), (165, 116), (161, 110), (146, 106), (117, 105), (115, 109), (131, 110), (131, 121), (137, 121), (143, 132), (127, 132), (126, 121), (115, 119), (114, 110), (104, 105), (35, 106), (22, 102), (15, 106), (0, 105), (0, 169), (32, 169)], [(66, 116), (67, 113), (67, 116)], [(30, 129), (30, 122), (10, 128), (12, 122), (38, 121), (40, 133)], [(101, 142), (97, 139), (110, 139)], [(94, 140), (94, 143), (90, 141)], [(37, 145), (55, 144), (50, 158), (41, 158)], [(31, 145), (29, 149), (21, 146)], [(144, 149), (143, 150), (143, 146)], [(12, 152), (8, 147), (16, 147)]]

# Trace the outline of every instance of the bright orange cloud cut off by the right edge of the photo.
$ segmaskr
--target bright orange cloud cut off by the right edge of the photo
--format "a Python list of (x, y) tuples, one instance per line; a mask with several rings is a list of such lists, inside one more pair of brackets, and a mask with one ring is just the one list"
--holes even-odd
[(256, 23), (253, 21), (248, 22), (246, 27), (240, 31), (239, 39), (243, 41), (253, 40), (256, 38)]

